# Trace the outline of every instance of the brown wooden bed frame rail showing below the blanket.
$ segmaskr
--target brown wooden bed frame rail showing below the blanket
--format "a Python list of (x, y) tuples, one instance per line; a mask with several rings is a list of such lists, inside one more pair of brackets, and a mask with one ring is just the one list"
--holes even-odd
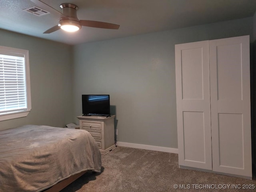
[(83, 171), (78, 174), (72, 175), (69, 178), (66, 178), (65, 180), (58, 182), (54, 186), (44, 190), (43, 192), (59, 192), (60, 190), (64, 189), (66, 186), (68, 186), (70, 183), (72, 183), (74, 180), (78, 179), (80, 176), (82, 176), (86, 172), (87, 171)]

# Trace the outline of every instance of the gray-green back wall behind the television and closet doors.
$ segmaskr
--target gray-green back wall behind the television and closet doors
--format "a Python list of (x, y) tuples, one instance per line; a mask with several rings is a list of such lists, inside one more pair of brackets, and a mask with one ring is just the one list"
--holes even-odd
[(119, 142), (178, 148), (174, 45), (242, 35), (252, 18), (74, 46), (74, 115), (82, 94), (110, 94)]

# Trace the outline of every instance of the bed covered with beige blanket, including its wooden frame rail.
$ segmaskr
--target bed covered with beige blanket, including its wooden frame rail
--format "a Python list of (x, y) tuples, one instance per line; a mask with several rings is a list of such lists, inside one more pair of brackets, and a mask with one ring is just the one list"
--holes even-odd
[(0, 131), (0, 192), (59, 191), (100, 169), (100, 151), (85, 130), (26, 125)]

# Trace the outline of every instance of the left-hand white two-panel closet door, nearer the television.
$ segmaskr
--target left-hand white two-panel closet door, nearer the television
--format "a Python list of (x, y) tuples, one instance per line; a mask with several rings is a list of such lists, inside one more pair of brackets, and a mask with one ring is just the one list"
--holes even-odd
[(212, 170), (209, 42), (175, 45), (179, 165)]

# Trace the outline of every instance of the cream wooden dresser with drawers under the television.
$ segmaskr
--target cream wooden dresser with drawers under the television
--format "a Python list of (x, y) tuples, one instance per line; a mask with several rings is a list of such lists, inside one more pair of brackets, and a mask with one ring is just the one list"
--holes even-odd
[(105, 155), (114, 148), (115, 133), (114, 133), (114, 118), (104, 116), (78, 116), (80, 129), (88, 131), (95, 139), (100, 153)]

